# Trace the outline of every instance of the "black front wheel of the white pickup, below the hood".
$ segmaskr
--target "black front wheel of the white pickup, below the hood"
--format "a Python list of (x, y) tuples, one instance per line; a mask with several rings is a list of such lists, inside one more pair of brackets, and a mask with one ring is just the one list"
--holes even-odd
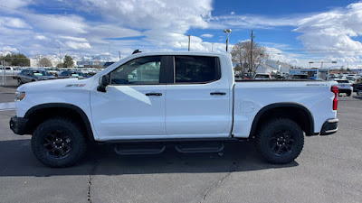
[(79, 125), (67, 118), (51, 118), (39, 125), (32, 137), (35, 157), (50, 167), (69, 167), (81, 160), (87, 148)]

